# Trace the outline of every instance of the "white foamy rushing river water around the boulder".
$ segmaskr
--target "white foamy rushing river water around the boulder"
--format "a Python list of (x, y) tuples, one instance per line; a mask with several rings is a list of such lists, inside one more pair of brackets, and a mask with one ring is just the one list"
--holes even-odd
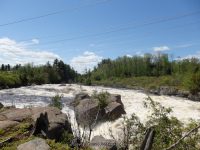
[[(143, 107), (143, 102), (148, 97), (145, 93), (136, 90), (127, 89), (115, 89), (101, 86), (80, 86), (80, 85), (40, 85), (21, 87), (16, 89), (0, 90), (0, 102), (9, 106), (14, 104), (18, 108), (24, 108), (28, 106), (46, 106), (50, 103), (51, 97), (56, 94), (63, 94), (64, 108), (63, 113), (70, 115), (70, 120), (73, 126), (76, 128), (76, 121), (74, 120), (74, 111), (69, 107), (69, 103), (73, 100), (76, 93), (85, 91), (92, 94), (93, 91), (107, 91), (111, 94), (120, 94), (126, 116), (131, 116), (135, 113), (142, 122), (145, 122), (148, 116), (148, 110)], [(183, 122), (187, 122), (189, 119), (200, 119), (200, 103), (189, 101), (184, 98), (170, 97), (170, 96), (156, 96), (150, 95), (154, 101), (160, 102), (165, 107), (172, 107), (172, 115), (177, 117)], [(122, 118), (115, 120), (114, 122), (105, 122), (97, 127), (92, 132), (92, 136), (103, 135), (109, 138), (109, 129), (111, 129), (114, 135), (117, 136), (121, 127)]]

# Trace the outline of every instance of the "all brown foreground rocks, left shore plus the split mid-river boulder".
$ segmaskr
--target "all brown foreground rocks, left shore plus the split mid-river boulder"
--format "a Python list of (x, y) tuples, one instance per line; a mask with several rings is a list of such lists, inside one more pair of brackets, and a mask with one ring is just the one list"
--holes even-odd
[[(77, 122), (86, 128), (91, 124), (94, 127), (96, 126), (94, 122), (116, 120), (126, 113), (120, 95), (109, 94), (108, 97), (103, 98), (106, 98), (106, 105), (100, 107), (100, 101), (97, 98), (87, 93), (77, 94), (71, 103), (75, 105)], [(17, 150), (55, 149), (48, 144), (48, 140), (58, 143), (66, 142), (65, 144), (68, 144), (70, 149), (79, 149), (83, 146), (81, 138), (87, 138), (78, 137), (73, 133), (72, 124), (69, 121), (71, 116), (62, 113), (56, 107), (15, 108), (4, 107), (1, 103), (0, 106), (0, 149), (13, 143), (16, 145), (18, 141), (22, 143), (16, 145)], [(65, 137), (63, 137), (64, 134)], [(114, 140), (106, 139), (101, 135), (89, 138), (88, 144), (92, 149), (116, 149)]]

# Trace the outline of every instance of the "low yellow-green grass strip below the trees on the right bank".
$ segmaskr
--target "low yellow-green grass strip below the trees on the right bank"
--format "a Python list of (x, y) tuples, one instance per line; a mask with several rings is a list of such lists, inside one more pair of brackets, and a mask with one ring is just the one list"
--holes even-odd
[(130, 89), (143, 88), (145, 90), (156, 89), (160, 86), (173, 86), (177, 89), (188, 90), (187, 86), (184, 83), (184, 77), (181, 75), (160, 77), (143, 76), (129, 78), (111, 78), (100, 81), (93, 80), (92, 84)]

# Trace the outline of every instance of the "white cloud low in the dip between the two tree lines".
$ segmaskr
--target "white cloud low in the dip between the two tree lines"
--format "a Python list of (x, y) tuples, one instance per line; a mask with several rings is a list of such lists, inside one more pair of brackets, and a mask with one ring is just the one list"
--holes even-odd
[(103, 57), (98, 56), (94, 52), (85, 51), (82, 55), (76, 56), (71, 59), (70, 65), (79, 73), (84, 73), (85, 69), (92, 70)]

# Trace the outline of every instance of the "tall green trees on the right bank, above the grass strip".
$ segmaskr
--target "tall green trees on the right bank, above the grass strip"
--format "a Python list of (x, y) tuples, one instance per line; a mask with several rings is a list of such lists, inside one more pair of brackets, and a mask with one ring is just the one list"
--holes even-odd
[[(162, 78), (170, 77), (175, 79), (173, 84), (185, 87), (193, 93), (200, 91), (200, 59), (173, 59), (168, 54), (144, 54), (143, 56), (118, 57), (117, 59), (102, 60), (93, 71), (88, 71), (85, 75), (88, 81), (127, 78)], [(88, 83), (90, 83), (88, 82)], [(140, 81), (138, 81), (140, 82)]]

